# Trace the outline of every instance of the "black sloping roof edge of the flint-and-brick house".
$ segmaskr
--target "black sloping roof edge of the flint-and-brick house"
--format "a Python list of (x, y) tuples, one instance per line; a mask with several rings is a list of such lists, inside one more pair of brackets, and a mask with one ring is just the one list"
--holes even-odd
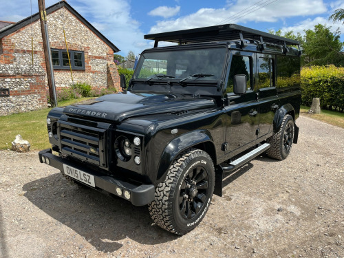
[[(87, 26), (87, 28), (89, 28), (89, 30), (92, 30), (92, 32), (94, 32), (94, 34), (96, 34), (107, 45), (109, 45), (109, 47), (111, 47), (111, 49), (114, 50), (114, 52), (120, 51), (118, 49), (118, 47), (116, 47), (116, 45), (111, 43), (111, 41), (109, 41), (109, 39), (107, 39), (96, 28), (94, 28), (94, 26), (91, 23), (89, 23), (84, 17), (82, 17), (78, 12), (76, 12), (76, 10), (74, 8), (72, 8), (72, 6), (70, 6), (66, 1), (61, 1), (61, 2), (55, 3), (54, 5), (49, 6), (45, 10), (46, 10), (47, 14), (50, 14), (50, 13), (55, 12), (56, 10), (63, 8), (63, 7), (67, 8), (67, 10), (69, 10), (69, 12), (72, 12), (72, 14), (74, 14), (76, 16), (76, 18), (78, 18), (82, 23), (84, 23)], [(39, 20), (39, 12), (32, 14), (32, 22), (37, 21), (37, 20)], [(18, 21), (17, 23), (15, 23), (13, 25), (9, 25), (9, 26), (3, 28), (2, 30), (0, 30), (0, 39), (2, 39), (4, 36), (8, 36), (9, 34), (12, 34), (13, 32), (16, 32), (17, 30), (25, 27), (26, 25), (29, 25), (30, 23), (31, 23), (31, 17), (29, 16), (29, 17), (27, 17), (21, 21)]]

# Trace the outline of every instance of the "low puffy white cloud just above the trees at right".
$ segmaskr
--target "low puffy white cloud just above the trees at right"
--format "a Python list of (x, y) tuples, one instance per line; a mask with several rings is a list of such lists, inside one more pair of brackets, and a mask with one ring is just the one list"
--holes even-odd
[(313, 30), (314, 25), (317, 24), (323, 24), (326, 25), (327, 27), (332, 27), (332, 32), (335, 32), (337, 28), (341, 30), (341, 33), (343, 34), (344, 32), (344, 25), (341, 22), (336, 22), (332, 23), (332, 21), (328, 21), (327, 19), (323, 17), (316, 17), (315, 19), (305, 19), (304, 21), (301, 21), (297, 25), (294, 26), (289, 26), (289, 27), (283, 27), (281, 28), (282, 34), (289, 32), (292, 30), (294, 34), (297, 34), (298, 32), (301, 33), (301, 35), (305, 34), (305, 30)]

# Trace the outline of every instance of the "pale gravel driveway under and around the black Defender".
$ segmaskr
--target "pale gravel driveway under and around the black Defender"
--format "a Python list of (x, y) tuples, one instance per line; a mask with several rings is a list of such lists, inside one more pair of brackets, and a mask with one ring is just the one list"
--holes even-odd
[(344, 257), (344, 129), (301, 116), (283, 161), (228, 175), (179, 237), (136, 207), (68, 184), (36, 152), (0, 151), (0, 257)]

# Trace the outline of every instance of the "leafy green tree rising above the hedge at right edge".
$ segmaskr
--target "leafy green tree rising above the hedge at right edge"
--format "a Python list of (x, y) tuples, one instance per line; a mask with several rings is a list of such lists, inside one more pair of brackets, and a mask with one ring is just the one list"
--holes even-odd
[(330, 29), (318, 24), (314, 30), (305, 31), (302, 65), (344, 65), (343, 43), (339, 40), (341, 33), (339, 30), (333, 33)]

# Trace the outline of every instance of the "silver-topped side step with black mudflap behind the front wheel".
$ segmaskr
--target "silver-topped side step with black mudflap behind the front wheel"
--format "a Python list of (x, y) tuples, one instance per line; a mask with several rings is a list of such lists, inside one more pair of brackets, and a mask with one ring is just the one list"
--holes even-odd
[(217, 166), (215, 171), (215, 189), (214, 194), (222, 196), (222, 180), (224, 179), (224, 173), (230, 173), (238, 169), (240, 166), (246, 164), (250, 160), (253, 160), (261, 153), (264, 153), (270, 148), (270, 143), (264, 143), (261, 146), (253, 149), (249, 153), (241, 156), (237, 160), (230, 162), (229, 166)]

